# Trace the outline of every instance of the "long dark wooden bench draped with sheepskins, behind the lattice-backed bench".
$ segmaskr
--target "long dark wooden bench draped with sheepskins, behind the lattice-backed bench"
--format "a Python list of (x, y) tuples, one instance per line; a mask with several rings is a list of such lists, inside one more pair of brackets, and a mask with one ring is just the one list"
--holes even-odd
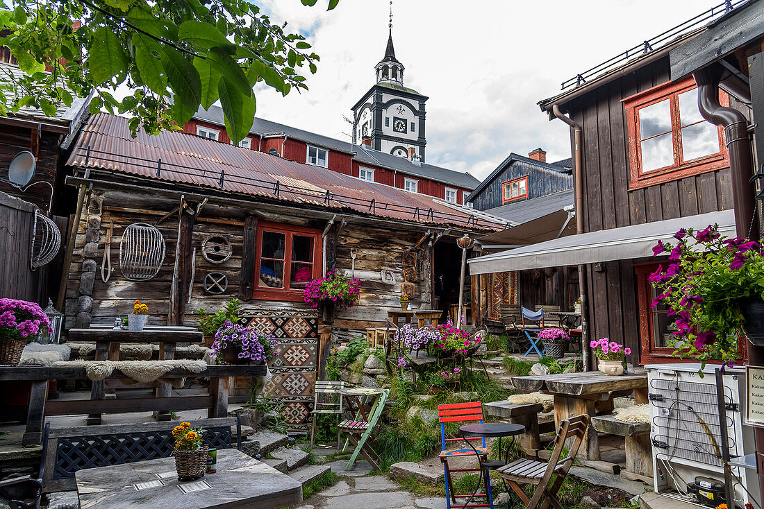
[[(206, 396), (179, 396), (163, 398), (60, 400), (47, 401), (50, 380), (87, 380), (86, 369), (69, 366), (0, 366), (0, 382), (31, 382), (32, 390), (27, 410), (27, 424), (22, 445), (39, 444), (45, 417), (50, 415), (82, 415), (95, 411), (120, 414), (141, 411), (181, 411), (207, 409), (208, 417), (225, 417), (228, 414), (228, 377), (264, 376), (264, 365), (207, 366), (200, 373), (174, 369), (163, 375), (165, 379), (208, 378), (209, 394)], [(127, 375), (118, 369), (107, 379), (125, 379)], [(93, 382), (95, 383), (95, 382)]]

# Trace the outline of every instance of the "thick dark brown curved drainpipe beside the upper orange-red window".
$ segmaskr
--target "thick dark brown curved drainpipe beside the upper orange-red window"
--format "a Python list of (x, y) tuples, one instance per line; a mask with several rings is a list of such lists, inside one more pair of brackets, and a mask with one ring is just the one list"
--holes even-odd
[(693, 73), (698, 83), (698, 108), (711, 124), (724, 127), (724, 139), (730, 152), (732, 173), (732, 202), (735, 208), (735, 228), (738, 237), (759, 239), (756, 221), (756, 198), (749, 179), (753, 176), (753, 156), (748, 121), (745, 115), (719, 103), (719, 81), (723, 69), (706, 68)]

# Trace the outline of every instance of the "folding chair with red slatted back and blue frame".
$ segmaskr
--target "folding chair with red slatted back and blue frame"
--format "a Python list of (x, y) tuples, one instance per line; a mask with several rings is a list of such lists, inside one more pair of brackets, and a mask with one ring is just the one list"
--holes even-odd
[[(456, 495), (454, 493), (454, 484), (452, 482), (452, 472), (480, 472), (481, 467), (472, 469), (452, 469), (448, 465), (448, 459), (457, 456), (474, 456), (475, 450), (478, 451), (480, 456), (479, 461), (484, 461), (488, 457), (488, 449), (485, 446), (485, 439), (483, 437), (458, 437), (458, 438), (446, 438), (445, 437), (445, 423), (448, 422), (475, 422), (479, 424), (483, 423), (483, 404), (480, 401), (474, 401), (471, 403), (453, 403), (453, 404), (439, 404), (438, 405), (438, 421), (440, 422), (440, 440), (443, 450), (438, 455), (440, 461), (443, 463), (443, 473), (445, 475), (445, 504), (447, 509), (451, 509), (452, 504), (456, 504), (457, 498), (484, 498), (486, 502), (470, 503), (466, 505), (459, 505), (457, 507), (490, 507), (494, 509), (494, 500), (490, 493), (490, 482), (488, 480), (488, 472), (484, 472), (484, 493), (474, 495)], [(475, 447), (461, 447), (458, 449), (449, 448), (448, 444), (455, 441), (462, 440), (481, 440), (481, 446)], [(477, 459), (477, 458), (476, 458)]]

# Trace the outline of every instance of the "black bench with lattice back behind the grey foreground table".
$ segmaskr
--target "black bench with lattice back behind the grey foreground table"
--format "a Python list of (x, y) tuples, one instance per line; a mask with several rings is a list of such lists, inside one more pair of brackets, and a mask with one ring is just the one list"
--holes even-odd
[[(201, 426), (206, 431), (205, 442), (211, 449), (237, 447), (241, 450), (240, 415), (189, 422), (192, 427)], [(45, 425), (43, 491), (75, 490), (74, 475), (82, 469), (168, 458), (173, 454), (173, 428), (178, 424), (179, 421), (163, 421), (51, 430), (48, 423)]]

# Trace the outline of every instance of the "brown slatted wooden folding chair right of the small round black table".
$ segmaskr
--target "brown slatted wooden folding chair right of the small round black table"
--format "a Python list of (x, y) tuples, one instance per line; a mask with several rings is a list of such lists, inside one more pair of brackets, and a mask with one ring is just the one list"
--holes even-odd
[[(564, 509), (557, 500), (557, 493), (562, 482), (565, 481), (565, 476), (568, 475), (568, 470), (573, 465), (573, 460), (578, 454), (578, 448), (581, 446), (581, 441), (584, 440), (584, 433), (586, 433), (588, 426), (589, 416), (586, 414), (562, 420), (555, 439), (555, 447), (552, 449), (548, 463), (521, 458), (498, 470), (499, 475), (526, 504), (526, 509), (536, 509), (536, 507), (545, 509), (549, 505), (554, 506), (555, 509)], [(560, 459), (567, 440), (571, 440), (568, 444), (568, 456)], [(554, 482), (552, 482), (552, 475), (555, 475)], [(528, 498), (523, 492), (523, 488), (520, 488), (521, 484), (536, 485), (533, 497)]]

